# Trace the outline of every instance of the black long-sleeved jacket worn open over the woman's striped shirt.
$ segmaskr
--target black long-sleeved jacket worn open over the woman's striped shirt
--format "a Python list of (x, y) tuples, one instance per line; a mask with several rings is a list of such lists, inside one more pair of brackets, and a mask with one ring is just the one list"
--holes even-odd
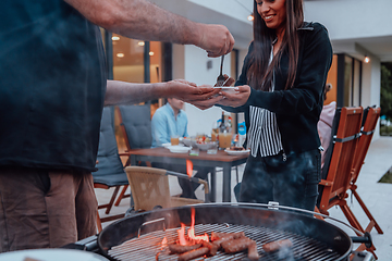
[[(274, 91), (252, 88), (249, 99), (244, 105), (222, 107), (230, 112), (245, 112), (247, 129), (249, 129), (249, 105), (275, 113), (285, 153), (314, 150), (320, 146), (317, 122), (322, 109), (323, 86), (333, 54), (328, 32), (321, 24), (305, 23), (298, 33), (299, 57), (293, 88), (284, 90), (289, 72), (289, 57), (287, 52), (283, 52), (280, 69), (274, 72)], [(248, 84), (246, 73), (250, 66), (249, 53), (252, 50), (253, 42), (235, 86)]]

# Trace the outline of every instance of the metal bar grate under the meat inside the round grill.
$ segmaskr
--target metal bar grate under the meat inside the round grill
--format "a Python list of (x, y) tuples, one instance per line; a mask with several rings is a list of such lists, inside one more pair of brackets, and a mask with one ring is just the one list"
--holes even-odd
[[(188, 227), (186, 227), (188, 228)], [(110, 257), (120, 260), (177, 260), (176, 254), (169, 254), (168, 247), (162, 246), (162, 240), (166, 237), (168, 244), (173, 244), (177, 240), (177, 229), (170, 228), (167, 231), (156, 231), (142, 235), (139, 238), (132, 238), (123, 244), (112, 247), (108, 253)], [(203, 235), (211, 232), (234, 233), (245, 232), (245, 235), (257, 243), (257, 250), (260, 254), (260, 260), (315, 260), (328, 261), (336, 260), (340, 256), (333, 249), (330, 249), (326, 244), (315, 240), (309, 237), (296, 235), (289, 232), (272, 229), (268, 227), (250, 226), (250, 225), (229, 225), (229, 224), (198, 224), (195, 225), (195, 235)], [(281, 249), (273, 253), (267, 253), (262, 250), (262, 245), (269, 241), (280, 239), (291, 239), (293, 247), (290, 249)], [(247, 260), (246, 252), (238, 252), (235, 254), (224, 253), (219, 251), (218, 254), (206, 258), (206, 260)]]

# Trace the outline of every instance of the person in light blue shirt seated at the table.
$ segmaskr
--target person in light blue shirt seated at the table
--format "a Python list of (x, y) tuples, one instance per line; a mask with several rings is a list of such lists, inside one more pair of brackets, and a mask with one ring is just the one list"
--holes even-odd
[[(159, 108), (151, 121), (152, 148), (160, 147), (162, 144), (169, 144), (170, 137), (177, 135), (179, 137), (187, 137), (187, 116), (182, 110), (184, 102), (175, 98), (168, 98), (168, 103)], [(154, 162), (152, 166), (164, 169), (168, 171), (186, 174), (186, 165), (168, 164)], [(195, 177), (206, 179), (209, 167), (194, 167), (197, 171)], [(179, 184), (183, 189), (181, 197), (196, 198), (195, 190), (199, 184), (192, 183), (184, 178), (179, 178)]]

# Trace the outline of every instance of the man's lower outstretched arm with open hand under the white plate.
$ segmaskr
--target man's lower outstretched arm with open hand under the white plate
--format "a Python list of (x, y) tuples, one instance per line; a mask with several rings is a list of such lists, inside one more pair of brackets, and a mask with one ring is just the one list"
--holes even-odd
[(134, 104), (158, 98), (177, 98), (200, 109), (207, 109), (219, 102), (219, 89), (197, 87), (184, 79), (156, 84), (134, 84), (108, 80), (105, 105)]

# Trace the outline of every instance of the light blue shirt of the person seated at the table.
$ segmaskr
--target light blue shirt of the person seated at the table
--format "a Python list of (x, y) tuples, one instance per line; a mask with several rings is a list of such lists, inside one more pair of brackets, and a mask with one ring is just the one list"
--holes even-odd
[(169, 102), (159, 108), (151, 120), (152, 148), (170, 142), (170, 136), (187, 137), (187, 116), (180, 110), (176, 119)]

